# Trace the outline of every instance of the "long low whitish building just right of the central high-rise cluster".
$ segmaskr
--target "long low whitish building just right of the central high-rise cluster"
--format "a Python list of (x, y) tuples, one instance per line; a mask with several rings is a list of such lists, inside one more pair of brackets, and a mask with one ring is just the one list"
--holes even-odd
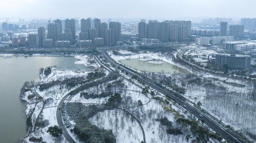
[(234, 41), (233, 36), (214, 36), (214, 37), (200, 37), (196, 38), (196, 45), (203, 46), (205, 44), (220, 45), (224, 41)]

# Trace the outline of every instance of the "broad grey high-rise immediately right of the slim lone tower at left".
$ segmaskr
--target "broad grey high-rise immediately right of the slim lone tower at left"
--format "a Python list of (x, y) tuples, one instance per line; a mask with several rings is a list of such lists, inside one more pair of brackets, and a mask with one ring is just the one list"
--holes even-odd
[(50, 23), (48, 24), (48, 39), (52, 39), (54, 42), (58, 40), (60, 34), (60, 24)]

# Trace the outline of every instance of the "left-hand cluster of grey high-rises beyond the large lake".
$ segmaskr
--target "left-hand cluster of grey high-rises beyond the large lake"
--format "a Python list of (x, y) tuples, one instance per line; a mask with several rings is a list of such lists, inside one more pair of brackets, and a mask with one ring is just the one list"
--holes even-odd
[[(24, 23), (24, 19), (19, 20), (20, 23)], [(77, 40), (91, 41), (95, 45), (115, 45), (118, 41), (121, 41), (121, 23), (113, 22), (111, 19), (108, 23), (101, 23), (100, 19), (87, 18), (81, 19), (81, 32), (76, 34), (77, 27), (79, 27), (79, 21), (77, 19), (66, 20), (47, 20), (33, 19), (29, 21), (34, 27), (29, 28), (38, 29), (38, 33), (29, 33), (26, 37), (14, 36), (14, 32), (17, 29), (25, 29), (27, 25), (14, 25), (11, 23), (2, 23), (2, 32), (0, 32), (1, 43), (8, 42), (13, 46), (29, 46), (29, 47), (51, 47), (51, 46), (68, 46), (76, 44)], [(37, 26), (35, 26), (37, 23)], [(45, 28), (45, 25), (47, 27)], [(8, 31), (8, 32), (4, 32)], [(7, 35), (8, 34), (8, 35)], [(78, 38), (79, 37), (79, 38)], [(17, 39), (18, 38), (18, 39)], [(27, 39), (26, 39), (27, 38)], [(66, 44), (69, 43), (69, 44)], [(83, 42), (81, 42), (83, 43)], [(79, 44), (90, 45), (90, 44)]]

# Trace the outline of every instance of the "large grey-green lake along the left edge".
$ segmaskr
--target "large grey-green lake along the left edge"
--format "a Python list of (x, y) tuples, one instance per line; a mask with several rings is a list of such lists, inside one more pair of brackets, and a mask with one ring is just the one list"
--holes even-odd
[(25, 81), (39, 81), (39, 69), (57, 65), (59, 69), (91, 70), (74, 64), (73, 56), (0, 57), (0, 143), (20, 143), (26, 135), (27, 102), (20, 99)]

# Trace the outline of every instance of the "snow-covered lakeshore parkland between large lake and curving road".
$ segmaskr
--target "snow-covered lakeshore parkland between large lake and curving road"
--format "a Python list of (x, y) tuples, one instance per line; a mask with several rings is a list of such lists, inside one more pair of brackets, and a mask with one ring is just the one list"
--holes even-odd
[[(34, 56), (34, 55), (33, 55)], [(75, 62), (75, 64), (83, 64), (85, 66), (94, 66), (95, 68), (99, 67), (99, 64), (95, 63), (96, 61), (92, 56), (87, 56), (87, 55), (78, 55), (75, 56), (75, 58), (79, 59), (79, 61)], [(94, 60), (92, 64), (90, 64), (91, 60)], [(86, 70), (58, 70), (58, 69), (52, 69), (52, 73), (48, 76), (45, 76), (44, 74), (40, 74), (41, 81), (40, 83), (47, 83), (50, 81), (56, 81), (60, 80), (63, 81), (66, 78), (71, 78), (71, 77), (78, 77), (78, 76), (86, 76), (89, 72), (91, 71), (86, 71)], [(107, 71), (105, 71), (106, 75), (108, 74)], [(71, 90), (77, 88), (77, 86), (71, 88), (71, 89), (65, 89), (65, 88), (60, 88), (60, 85), (55, 85), (53, 87), (50, 87), (49, 89), (46, 89), (44, 91), (39, 90), (39, 86), (37, 87), (36, 91), (37, 93), (47, 102), (44, 104), (44, 109), (41, 114), (43, 115), (44, 120), (49, 120), (50, 124), (44, 128), (39, 128), (36, 130), (36, 132), (30, 133), (30, 137), (42, 137), (43, 141), (46, 141), (47, 143), (51, 142), (56, 142), (55, 138), (52, 137), (49, 133), (46, 132), (48, 127), (57, 125), (57, 120), (56, 120), (56, 110), (57, 110), (57, 105), (59, 104), (60, 100), (69, 93)], [(31, 89), (31, 91), (34, 91), (34, 87)], [(28, 104), (26, 105), (27, 108), (25, 110), (26, 115), (32, 114), (32, 123), (34, 125), (34, 122), (36, 120), (36, 117), (38, 116), (40, 110), (42, 109), (43, 102), (38, 102), (37, 96), (28, 99), (28, 95), (32, 95), (33, 93), (31, 91), (27, 91), (24, 93), (24, 95), (21, 96), (23, 100), (26, 100)], [(33, 112), (34, 110), (34, 112)], [(32, 113), (33, 112), (33, 113)], [(30, 141), (28, 140), (29, 137), (25, 138), (28, 143)], [(61, 143), (64, 143), (65, 138), (62, 136), (62, 141)]]

